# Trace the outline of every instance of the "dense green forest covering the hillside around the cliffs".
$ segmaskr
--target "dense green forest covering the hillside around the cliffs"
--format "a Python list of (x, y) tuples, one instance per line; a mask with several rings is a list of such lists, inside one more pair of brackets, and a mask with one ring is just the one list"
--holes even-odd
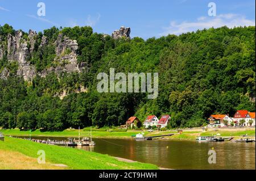
[[(0, 43), (9, 33), (14, 35), (13, 27), (0, 26)], [(27, 82), (16, 76), (18, 64), (5, 52), (0, 73), (7, 68), (10, 75), (0, 79), (0, 127), (101, 128), (125, 124), (130, 116), (144, 121), (148, 115), (164, 114), (171, 115), (171, 128), (199, 127), (213, 113), (233, 116), (236, 110), (255, 111), (255, 27), (209, 28), (147, 40), (115, 40), (91, 27), (52, 27), (38, 33), (28, 59), (37, 71), (56, 66), (54, 42), (60, 33), (77, 40), (77, 60), (86, 62), (88, 71), (51, 73)], [(46, 47), (39, 46), (42, 36), (48, 39)], [(110, 68), (125, 74), (159, 73), (158, 98), (97, 92), (97, 74), (109, 73)], [(80, 86), (87, 91), (77, 93)], [(57, 95), (64, 90), (68, 95), (60, 99)]]

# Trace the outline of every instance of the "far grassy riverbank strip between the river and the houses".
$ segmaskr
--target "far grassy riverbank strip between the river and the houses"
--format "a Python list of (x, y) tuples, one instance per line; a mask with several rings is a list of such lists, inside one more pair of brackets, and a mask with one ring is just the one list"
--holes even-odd
[[(39, 129), (35, 131), (19, 131), (19, 129), (0, 129), (5, 136), (49, 136), (49, 137), (78, 137), (79, 131), (76, 129), (66, 129), (62, 132), (41, 132)], [(142, 131), (127, 131), (127, 132), (108, 132), (108, 131), (92, 131), (94, 138), (131, 138), (132, 135), (141, 133)], [(203, 132), (202, 129), (184, 130), (182, 134), (178, 134), (176, 131), (165, 132), (147, 132), (144, 131), (144, 136), (157, 136), (162, 134), (174, 133), (173, 136), (167, 137), (171, 140), (195, 140), (197, 136), (211, 136), (220, 134), (220, 136), (234, 136), (235, 138), (247, 136), (255, 137), (255, 128), (227, 128), (227, 129), (208, 129)], [(89, 131), (80, 131), (81, 137), (88, 137)]]

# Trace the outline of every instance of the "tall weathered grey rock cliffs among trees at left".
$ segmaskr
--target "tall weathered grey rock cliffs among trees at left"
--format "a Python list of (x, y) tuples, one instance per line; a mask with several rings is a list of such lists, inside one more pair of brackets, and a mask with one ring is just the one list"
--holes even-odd
[[(80, 72), (84, 69), (88, 69), (86, 62), (77, 64), (77, 49), (78, 44), (76, 40), (70, 40), (68, 37), (60, 34), (57, 40), (53, 43), (56, 47), (55, 61), (59, 62), (59, 66), (55, 68), (50, 67), (46, 70), (37, 72), (34, 65), (30, 64), (28, 59), (31, 57), (35, 49), (36, 43), (36, 31), (30, 30), (28, 32), (28, 38), (25, 38), (22, 31), (15, 31), (15, 35), (9, 34), (7, 36), (7, 45), (5, 48), (5, 42), (0, 37), (0, 59), (5, 55), (5, 49), (7, 49), (6, 56), (8, 61), (18, 62), (18, 70), (16, 75), (22, 76), (26, 81), (30, 81), (38, 74), (41, 77), (46, 77), (48, 73), (55, 72), (59, 74), (63, 71), (68, 73), (77, 71)], [(46, 36), (42, 36), (39, 47), (48, 45)], [(9, 71), (5, 68), (0, 74), (0, 78), (6, 78), (9, 76)]]

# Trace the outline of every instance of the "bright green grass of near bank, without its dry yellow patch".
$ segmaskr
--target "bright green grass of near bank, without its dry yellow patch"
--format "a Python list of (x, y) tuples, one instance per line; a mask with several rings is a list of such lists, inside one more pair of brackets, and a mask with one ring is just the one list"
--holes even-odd
[(157, 166), (148, 163), (121, 162), (109, 155), (61, 146), (39, 144), (10, 137), (6, 137), (5, 141), (0, 141), (0, 150), (9, 151), (10, 154), (15, 151), (31, 158), (38, 158), (38, 150), (44, 150), (46, 152), (46, 162), (64, 164), (68, 166), (67, 169), (158, 169)]

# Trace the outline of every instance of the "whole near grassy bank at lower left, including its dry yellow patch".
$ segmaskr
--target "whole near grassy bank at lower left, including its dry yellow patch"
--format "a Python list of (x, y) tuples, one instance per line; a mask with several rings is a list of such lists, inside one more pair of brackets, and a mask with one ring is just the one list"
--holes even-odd
[[(46, 164), (39, 164), (38, 150), (46, 153)], [(5, 137), (0, 141), (0, 170), (2, 169), (158, 169), (148, 163), (122, 162), (109, 155), (39, 144)]]

